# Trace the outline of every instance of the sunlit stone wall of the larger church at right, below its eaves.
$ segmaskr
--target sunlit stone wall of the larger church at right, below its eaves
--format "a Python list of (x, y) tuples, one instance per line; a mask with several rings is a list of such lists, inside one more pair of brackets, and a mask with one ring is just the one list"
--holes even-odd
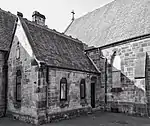
[[(102, 103), (104, 103), (105, 82), (107, 82), (107, 109), (109, 111), (116, 109), (120, 112), (142, 115), (150, 113), (150, 38), (138, 39), (87, 52), (102, 71), (101, 90), (103, 92), (101, 92), (100, 99)], [(115, 89), (112, 91), (114, 52), (121, 59), (120, 89), (118, 91)], [(106, 59), (102, 57), (107, 58), (107, 65), (105, 65)]]

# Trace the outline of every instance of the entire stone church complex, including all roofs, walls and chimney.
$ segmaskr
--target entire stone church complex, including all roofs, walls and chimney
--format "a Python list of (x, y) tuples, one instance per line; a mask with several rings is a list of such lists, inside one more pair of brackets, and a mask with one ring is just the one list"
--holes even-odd
[(0, 116), (32, 124), (97, 110), (150, 116), (150, 1), (115, 0), (64, 33), (0, 10)]

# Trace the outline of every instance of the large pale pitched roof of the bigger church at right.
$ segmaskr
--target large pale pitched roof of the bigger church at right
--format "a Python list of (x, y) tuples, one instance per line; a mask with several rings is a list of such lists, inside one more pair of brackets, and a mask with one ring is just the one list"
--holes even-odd
[(78, 19), (66, 31), (90, 46), (150, 33), (150, 0), (115, 0)]

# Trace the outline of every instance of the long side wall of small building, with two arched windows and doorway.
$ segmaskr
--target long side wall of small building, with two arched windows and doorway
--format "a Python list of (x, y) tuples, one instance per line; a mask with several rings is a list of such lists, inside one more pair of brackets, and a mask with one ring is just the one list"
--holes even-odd
[[(46, 70), (43, 70), (46, 73)], [(97, 75), (72, 71), (66, 69), (49, 68), (48, 72), (48, 94), (46, 106), (46, 85), (41, 84), (39, 92), (39, 123), (51, 122), (78, 116), (81, 113), (87, 113), (91, 109), (91, 77), (97, 77), (95, 104), (99, 107), (100, 83)], [(67, 79), (67, 100), (60, 101), (60, 80), (65, 77)], [(45, 75), (46, 78), (46, 75)], [(41, 78), (42, 79), (42, 78)], [(80, 99), (80, 81), (86, 81), (86, 98)], [(46, 79), (42, 79), (46, 81)], [(43, 88), (42, 88), (43, 85)], [(47, 108), (47, 109), (46, 109)]]

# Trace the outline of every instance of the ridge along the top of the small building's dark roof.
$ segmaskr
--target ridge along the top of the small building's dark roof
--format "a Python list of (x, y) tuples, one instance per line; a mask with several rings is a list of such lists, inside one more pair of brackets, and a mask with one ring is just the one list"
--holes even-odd
[(56, 31), (55, 29), (50, 29), (50, 28), (48, 28), (47, 26), (38, 25), (38, 24), (34, 23), (33, 21), (28, 20), (27, 18), (23, 18), (23, 19), (24, 19), (25, 21), (29, 22), (30, 24), (36, 26), (36, 27), (42, 28), (42, 29), (47, 30), (47, 31), (49, 31), (49, 32), (53, 32), (53, 33), (55, 33), (55, 34), (57, 34), (57, 35), (60, 35), (60, 36), (62, 36), (62, 37), (71, 39), (71, 40), (73, 40), (74, 42), (77, 42), (77, 43), (80, 43), (80, 44), (84, 44), (84, 43), (83, 43), (82, 41), (80, 41), (78, 38), (73, 38), (72, 36), (68, 36), (68, 35), (66, 35), (66, 34), (64, 34), (64, 33), (60, 33), (60, 32), (58, 32), (58, 31)]

